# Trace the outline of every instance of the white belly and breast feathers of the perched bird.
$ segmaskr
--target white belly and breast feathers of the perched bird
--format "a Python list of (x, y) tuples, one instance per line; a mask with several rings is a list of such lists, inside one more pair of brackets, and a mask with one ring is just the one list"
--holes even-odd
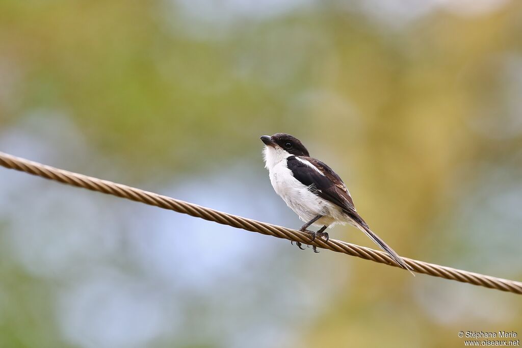
[(294, 178), (292, 171), (286, 165), (286, 160), (280, 161), (269, 171), (274, 190), (302, 221), (308, 222), (317, 215), (323, 215), (324, 218), (317, 220), (316, 225), (330, 225), (346, 220), (339, 207), (318, 197)]

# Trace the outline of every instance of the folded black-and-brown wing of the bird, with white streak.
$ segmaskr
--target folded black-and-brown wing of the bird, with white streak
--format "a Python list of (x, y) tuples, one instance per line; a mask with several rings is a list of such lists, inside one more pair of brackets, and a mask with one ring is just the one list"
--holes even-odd
[(289, 157), (287, 165), (294, 178), (303, 185), (312, 187), (311, 191), (315, 195), (334, 203), (348, 214), (357, 214), (345, 183), (328, 165), (304, 156)]

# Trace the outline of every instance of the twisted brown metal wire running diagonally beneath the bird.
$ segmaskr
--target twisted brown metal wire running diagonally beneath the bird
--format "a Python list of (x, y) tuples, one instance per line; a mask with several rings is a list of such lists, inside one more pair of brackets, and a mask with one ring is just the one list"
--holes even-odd
[[(152, 192), (141, 190), (139, 188), (113, 183), (83, 174), (73, 173), (63, 169), (57, 169), (49, 165), (29, 161), (4, 152), (0, 152), (0, 165), (9, 169), (41, 176), (64, 184), (83, 187), (92, 191), (99, 191), (104, 194), (131, 199), (163, 209), (174, 210), (179, 213), (188, 214), (193, 217), (205, 219), (208, 221), (214, 221), (223, 225), (229, 225), (238, 229), (289, 239), (290, 241), (301, 242), (308, 245), (315, 245), (319, 248), (329, 249), (351, 256), (357, 256), (365, 260), (385, 263), (388, 266), (400, 267), (383, 251), (338, 241), (336, 239), (330, 239), (325, 243), (321, 238), (315, 238), (314, 242), (310, 242), (310, 235), (304, 232), (287, 229), (286, 227), (272, 225), (266, 222), (246, 219), (237, 215), (201, 207), (179, 199), (158, 195)], [(468, 272), (409, 258), (403, 259), (415, 272), (418, 273), (424, 273), (432, 275), (433, 277), (440, 277), (463, 283), (489, 287), (490, 289), (522, 294), (522, 282), (491, 277), (490, 275)]]

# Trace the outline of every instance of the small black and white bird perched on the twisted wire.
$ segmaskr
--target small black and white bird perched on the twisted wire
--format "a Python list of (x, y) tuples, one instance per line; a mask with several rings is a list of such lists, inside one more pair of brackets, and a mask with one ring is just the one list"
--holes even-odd
[[(301, 141), (285, 133), (264, 135), (260, 139), (265, 143), (265, 166), (274, 190), (305, 222), (300, 231), (310, 233), (312, 241), (316, 236), (328, 241), (328, 233), (325, 232), (328, 227), (349, 223), (370, 237), (402, 268), (411, 272), (411, 267), (360, 217), (339, 175), (325, 163), (310, 157)], [(317, 232), (308, 231), (311, 225), (322, 227)], [(300, 242), (297, 245), (304, 250)], [(315, 246), (313, 250), (318, 253)]]

